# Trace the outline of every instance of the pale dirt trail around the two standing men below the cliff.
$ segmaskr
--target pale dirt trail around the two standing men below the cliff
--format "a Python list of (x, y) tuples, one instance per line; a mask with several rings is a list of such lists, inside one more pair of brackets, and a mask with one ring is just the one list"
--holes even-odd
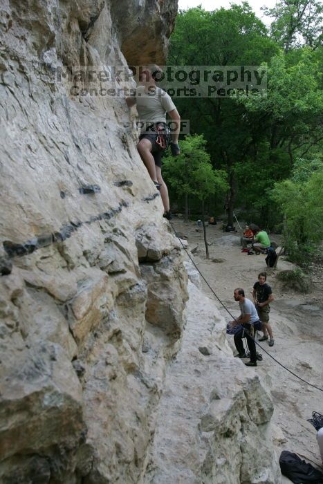
[[(241, 253), (241, 247), (234, 245), (234, 242), (237, 244), (234, 236), (241, 236), (239, 232), (223, 234), (220, 225), (209, 225), (207, 239), (211, 244), (210, 259), (205, 259), (203, 232), (196, 232), (196, 223), (184, 223), (175, 218), (173, 225), (178, 234), (187, 236), (191, 250), (198, 246), (194, 260), (199, 270), (230, 312), (234, 316), (238, 315), (239, 308), (233, 299), (233, 290), (242, 287), (246, 296), (252, 299), (250, 291), (257, 281), (258, 273), (267, 270), (265, 257)], [(279, 243), (277, 236), (273, 236), (273, 240)], [(272, 348), (268, 346), (268, 342), (261, 345), (301, 378), (323, 388), (323, 276), (315, 278), (316, 282), (310, 294), (299, 295), (292, 290), (282, 290), (277, 281), (277, 272), (287, 268), (293, 268), (293, 264), (285, 261), (283, 257), (279, 259), (277, 270), (267, 270), (267, 281), (273, 288), (275, 297), (270, 311), (275, 345)], [(214, 298), (205, 284), (203, 288), (209, 297)], [(220, 305), (218, 307), (226, 321), (232, 319)], [(228, 336), (228, 341), (233, 349), (233, 337)], [(312, 411), (323, 413), (322, 391), (297, 380), (260, 348), (258, 351), (264, 357), (263, 362), (259, 362), (255, 370), (246, 367), (246, 371), (257, 371), (264, 387), (273, 398), (277, 454), (283, 449), (297, 452), (299, 456), (322, 469), (315, 429), (306, 422), (307, 418), (311, 418)]]

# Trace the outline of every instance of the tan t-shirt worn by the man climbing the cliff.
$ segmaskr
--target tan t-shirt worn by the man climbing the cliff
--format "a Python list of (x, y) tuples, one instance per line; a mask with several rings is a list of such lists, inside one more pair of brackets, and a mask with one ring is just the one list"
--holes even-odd
[(142, 122), (141, 133), (147, 131), (149, 122), (166, 122), (166, 113), (176, 109), (172, 98), (160, 87), (154, 92), (145, 93), (145, 86), (138, 86), (136, 93), (137, 111)]

